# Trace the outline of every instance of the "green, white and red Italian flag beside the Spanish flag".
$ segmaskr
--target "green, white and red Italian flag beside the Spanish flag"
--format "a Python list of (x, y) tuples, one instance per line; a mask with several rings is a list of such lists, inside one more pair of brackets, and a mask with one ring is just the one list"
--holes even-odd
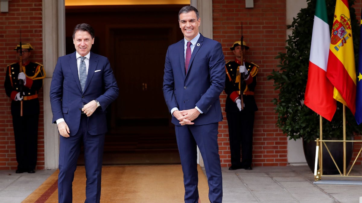
[(337, 109), (334, 87), (327, 78), (330, 39), (325, 0), (317, 0), (304, 104), (329, 121)]

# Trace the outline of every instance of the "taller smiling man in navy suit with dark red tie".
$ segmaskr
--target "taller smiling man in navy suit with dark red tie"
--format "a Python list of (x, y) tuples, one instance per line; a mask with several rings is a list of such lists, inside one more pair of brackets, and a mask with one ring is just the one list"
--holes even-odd
[(185, 6), (178, 13), (185, 38), (168, 47), (163, 92), (175, 125), (185, 203), (197, 203), (199, 199), (197, 146), (205, 163), (209, 200), (221, 203), (218, 122), (223, 118), (219, 95), (225, 85), (225, 61), (221, 44), (199, 33), (200, 21), (198, 10), (192, 6)]

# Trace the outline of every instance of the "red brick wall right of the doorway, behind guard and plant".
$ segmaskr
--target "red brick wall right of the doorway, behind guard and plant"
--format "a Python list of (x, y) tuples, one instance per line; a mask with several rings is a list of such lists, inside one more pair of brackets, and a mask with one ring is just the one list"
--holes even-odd
[[(278, 52), (285, 52), (286, 1), (254, 0), (254, 8), (245, 8), (245, 1), (240, 0), (213, 0), (212, 3), (213, 38), (222, 44), (225, 59), (227, 61), (235, 59), (228, 47), (240, 40), (242, 22), (244, 41), (250, 47), (246, 60), (260, 66), (255, 90), (259, 110), (256, 112), (254, 124), (253, 165), (285, 166), (287, 165), (288, 138), (275, 126), (277, 116), (271, 100), (278, 98), (278, 92), (274, 91), (274, 82), (268, 81), (266, 77), (273, 69), (277, 69), (279, 61), (274, 58)], [(360, 0), (355, 2), (354, 8), (359, 19)], [(226, 94), (223, 92), (220, 98), (224, 104)], [(230, 167), (226, 113), (224, 112), (223, 115), (224, 121), (219, 127), (219, 154), (222, 167)], [(355, 144), (354, 156), (360, 149), (358, 146), (360, 144)]]

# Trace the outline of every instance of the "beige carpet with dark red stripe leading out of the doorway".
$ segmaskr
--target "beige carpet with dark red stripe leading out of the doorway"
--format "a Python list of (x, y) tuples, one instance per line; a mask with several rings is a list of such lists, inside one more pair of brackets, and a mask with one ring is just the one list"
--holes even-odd
[[(200, 166), (199, 196), (209, 203), (207, 178)], [(54, 172), (23, 203), (57, 203), (58, 173)], [(101, 203), (183, 203), (181, 165), (143, 165), (102, 168)], [(73, 203), (85, 200), (85, 169), (78, 167), (73, 181)]]

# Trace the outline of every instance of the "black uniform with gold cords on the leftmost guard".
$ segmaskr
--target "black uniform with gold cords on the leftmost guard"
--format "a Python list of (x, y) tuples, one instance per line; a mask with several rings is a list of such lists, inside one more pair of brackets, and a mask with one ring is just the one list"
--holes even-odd
[(6, 94), (12, 99), (11, 115), (13, 116), (16, 160), (18, 162), (17, 172), (30, 172), (35, 169), (37, 163), (38, 91), (43, 86), (43, 78), (45, 77), (45, 71), (41, 64), (27, 62), (24, 67), (26, 85), (22, 87), (24, 92), (22, 116), (20, 116), (21, 102), (15, 100), (16, 94), (20, 92), (18, 63), (7, 66), (4, 83)]

